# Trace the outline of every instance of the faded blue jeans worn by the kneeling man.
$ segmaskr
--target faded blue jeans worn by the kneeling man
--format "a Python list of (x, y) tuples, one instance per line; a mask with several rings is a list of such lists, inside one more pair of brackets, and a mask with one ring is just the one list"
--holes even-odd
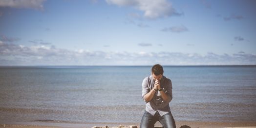
[(156, 112), (155, 115), (151, 115), (147, 111), (145, 111), (142, 116), (140, 128), (154, 128), (156, 121), (159, 121), (163, 128), (176, 128), (175, 121), (171, 115), (171, 112), (160, 116), (158, 112)]

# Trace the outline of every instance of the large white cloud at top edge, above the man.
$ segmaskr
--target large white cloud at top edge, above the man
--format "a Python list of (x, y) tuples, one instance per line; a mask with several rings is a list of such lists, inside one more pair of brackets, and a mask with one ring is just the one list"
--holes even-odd
[(144, 17), (155, 19), (159, 17), (180, 16), (168, 0), (106, 0), (108, 4), (132, 6), (144, 12)]

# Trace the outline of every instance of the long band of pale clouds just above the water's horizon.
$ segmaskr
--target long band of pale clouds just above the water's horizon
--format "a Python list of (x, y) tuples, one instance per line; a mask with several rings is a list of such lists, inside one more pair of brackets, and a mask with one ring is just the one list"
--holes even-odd
[(0, 41), (0, 65), (223, 65), (256, 64), (256, 55), (243, 51), (229, 55), (180, 52), (105, 52), (67, 50), (54, 46), (32, 46)]

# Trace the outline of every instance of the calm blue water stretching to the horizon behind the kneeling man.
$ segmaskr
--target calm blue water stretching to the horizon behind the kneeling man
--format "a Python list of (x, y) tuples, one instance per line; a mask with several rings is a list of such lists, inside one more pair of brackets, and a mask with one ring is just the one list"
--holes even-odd
[[(139, 123), (151, 66), (0, 67), (2, 122)], [(256, 121), (256, 66), (164, 66), (175, 121)]]

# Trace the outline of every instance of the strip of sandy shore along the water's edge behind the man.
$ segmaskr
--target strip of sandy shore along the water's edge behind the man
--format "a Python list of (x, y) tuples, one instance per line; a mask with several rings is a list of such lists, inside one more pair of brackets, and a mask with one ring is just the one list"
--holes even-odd
[[(176, 127), (183, 125), (191, 128), (256, 128), (256, 122), (200, 122), (200, 121), (176, 121)], [(118, 127), (118, 126), (138, 126), (139, 123), (58, 123), (58, 122), (0, 122), (0, 128), (92, 128), (94, 126)], [(155, 127), (161, 127), (157, 122)]]

